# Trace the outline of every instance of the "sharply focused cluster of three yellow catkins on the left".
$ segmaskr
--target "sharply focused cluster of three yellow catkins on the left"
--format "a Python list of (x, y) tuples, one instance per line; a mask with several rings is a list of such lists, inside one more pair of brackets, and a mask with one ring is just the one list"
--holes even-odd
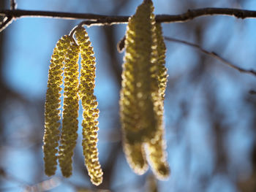
[[(64, 177), (72, 174), (73, 150), (78, 138), (78, 101), (83, 105), (83, 155), (86, 167), (94, 185), (102, 183), (102, 169), (97, 151), (99, 110), (94, 96), (95, 58), (85, 28), (75, 29), (75, 39), (61, 37), (53, 50), (48, 75), (48, 90), (45, 101), (45, 174), (55, 174), (57, 159)], [(78, 59), (81, 55), (80, 82)], [(64, 74), (64, 102), (60, 137), (61, 85)], [(60, 140), (60, 141), (59, 141)], [(59, 145), (60, 142), (60, 145)], [(59, 151), (58, 151), (59, 147)], [(59, 154), (57, 155), (57, 153)]]

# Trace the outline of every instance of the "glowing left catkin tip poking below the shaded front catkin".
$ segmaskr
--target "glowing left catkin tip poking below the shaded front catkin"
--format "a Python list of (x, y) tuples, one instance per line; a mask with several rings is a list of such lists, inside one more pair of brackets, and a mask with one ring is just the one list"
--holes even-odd
[(129, 166), (136, 174), (144, 174), (148, 170), (144, 145), (141, 143), (129, 144), (128, 142), (124, 142), (123, 145)]

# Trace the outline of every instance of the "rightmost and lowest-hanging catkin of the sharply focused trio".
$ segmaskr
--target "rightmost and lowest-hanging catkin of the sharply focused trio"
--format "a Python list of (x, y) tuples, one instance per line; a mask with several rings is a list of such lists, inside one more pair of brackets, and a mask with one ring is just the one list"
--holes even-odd
[(99, 110), (97, 109), (95, 85), (95, 57), (86, 29), (79, 27), (75, 31), (81, 53), (80, 90), (79, 96), (83, 106), (83, 155), (86, 167), (94, 185), (102, 183), (102, 169), (99, 164), (97, 150), (97, 131)]

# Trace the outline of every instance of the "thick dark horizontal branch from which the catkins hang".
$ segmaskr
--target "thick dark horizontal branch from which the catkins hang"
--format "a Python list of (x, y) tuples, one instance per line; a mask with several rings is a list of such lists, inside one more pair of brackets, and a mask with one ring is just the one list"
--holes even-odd
[[(12, 5), (15, 6), (16, 4)], [(188, 9), (187, 12), (180, 15), (157, 15), (156, 20), (160, 23), (175, 23), (186, 22), (194, 18), (208, 15), (227, 15), (236, 18), (256, 18), (256, 11), (245, 9), (230, 9), (230, 8), (202, 8), (202, 9)], [(47, 11), (31, 11), (23, 9), (3, 9), (0, 10), (0, 16), (8, 18), (57, 18), (87, 20), (87, 25), (114, 25), (127, 23), (129, 16), (116, 15), (97, 15), (87, 13), (73, 13), (73, 12), (47, 12)]]

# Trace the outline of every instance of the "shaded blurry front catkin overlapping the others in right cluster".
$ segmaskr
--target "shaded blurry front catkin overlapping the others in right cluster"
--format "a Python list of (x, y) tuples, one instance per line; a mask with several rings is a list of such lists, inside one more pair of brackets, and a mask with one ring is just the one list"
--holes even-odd
[[(152, 2), (144, 1), (129, 18), (127, 26), (120, 115), (122, 129), (130, 143), (151, 140), (157, 132), (159, 91), (156, 57), (152, 51), (155, 47), (153, 10)], [(131, 125), (131, 120), (136, 123)]]

